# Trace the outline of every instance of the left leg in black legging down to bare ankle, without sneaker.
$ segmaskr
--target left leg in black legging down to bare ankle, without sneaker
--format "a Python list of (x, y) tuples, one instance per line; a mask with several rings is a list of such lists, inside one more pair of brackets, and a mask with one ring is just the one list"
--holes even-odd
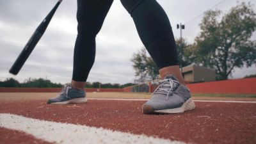
[(72, 86), (84, 88), (95, 60), (95, 36), (113, 0), (77, 0), (77, 39), (74, 49)]

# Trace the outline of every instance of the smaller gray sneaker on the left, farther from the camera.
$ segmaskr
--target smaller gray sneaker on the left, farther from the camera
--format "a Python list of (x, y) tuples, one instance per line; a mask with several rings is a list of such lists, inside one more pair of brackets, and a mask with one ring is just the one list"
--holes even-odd
[(84, 90), (72, 88), (71, 84), (65, 84), (57, 97), (47, 101), (47, 104), (77, 104), (87, 102)]

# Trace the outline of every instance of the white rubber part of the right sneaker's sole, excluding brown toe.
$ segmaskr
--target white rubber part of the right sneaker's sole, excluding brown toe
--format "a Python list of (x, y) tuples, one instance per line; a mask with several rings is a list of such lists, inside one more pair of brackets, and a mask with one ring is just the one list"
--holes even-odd
[(184, 113), (185, 111), (189, 111), (195, 109), (195, 103), (193, 102), (192, 98), (188, 99), (180, 108), (174, 109), (163, 109), (154, 111), (156, 113)]

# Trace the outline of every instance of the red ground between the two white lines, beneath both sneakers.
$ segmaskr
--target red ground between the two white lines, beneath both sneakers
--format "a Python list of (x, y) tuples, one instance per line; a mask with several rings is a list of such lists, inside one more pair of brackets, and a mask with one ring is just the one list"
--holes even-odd
[(196, 109), (177, 115), (143, 115), (143, 103), (89, 100), (86, 104), (47, 105), (44, 100), (12, 101), (0, 102), (0, 113), (104, 127), (190, 143), (250, 144), (256, 141), (254, 103), (196, 102)]

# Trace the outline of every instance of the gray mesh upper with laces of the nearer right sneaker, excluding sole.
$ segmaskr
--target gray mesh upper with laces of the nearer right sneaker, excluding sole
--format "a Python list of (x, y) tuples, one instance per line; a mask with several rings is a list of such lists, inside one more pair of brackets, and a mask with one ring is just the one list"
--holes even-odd
[(175, 76), (168, 75), (159, 81), (159, 86), (145, 105), (150, 106), (155, 111), (179, 108), (190, 97), (188, 88), (179, 84)]

